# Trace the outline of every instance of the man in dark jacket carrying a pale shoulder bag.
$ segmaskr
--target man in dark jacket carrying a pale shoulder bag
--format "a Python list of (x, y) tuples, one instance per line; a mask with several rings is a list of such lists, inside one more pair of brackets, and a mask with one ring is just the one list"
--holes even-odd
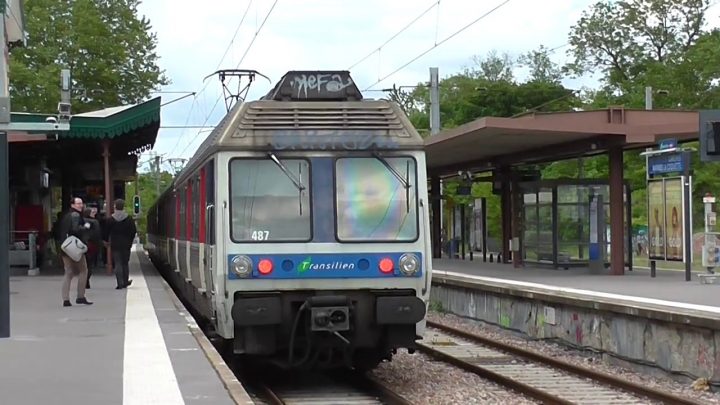
[[(58, 229), (58, 236), (61, 241), (65, 241), (65, 239), (71, 235), (83, 241), (87, 239), (86, 233), (90, 229), (90, 224), (83, 219), (83, 206), (82, 198), (73, 197), (70, 210), (68, 210), (63, 217)], [(91, 305), (92, 302), (85, 298), (85, 285), (87, 283), (87, 261), (85, 260), (85, 255), (82, 255), (80, 261), (76, 262), (66, 255), (62, 249), (60, 249), (60, 252), (65, 268), (62, 285), (63, 306), (72, 306), (72, 304), (70, 304), (70, 283), (75, 276), (78, 277), (77, 299), (75, 303)]]

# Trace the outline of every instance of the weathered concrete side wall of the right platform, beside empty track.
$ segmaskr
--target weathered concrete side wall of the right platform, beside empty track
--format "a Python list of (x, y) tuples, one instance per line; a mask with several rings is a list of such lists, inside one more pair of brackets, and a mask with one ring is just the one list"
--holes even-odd
[(636, 306), (617, 311), (603, 308), (607, 305), (600, 302), (435, 282), (431, 300), (454, 315), (496, 324), (531, 338), (599, 351), (610, 363), (631, 365), (651, 374), (670, 373), (680, 380), (720, 379), (720, 328), (716, 320), (667, 313), (655, 317)]

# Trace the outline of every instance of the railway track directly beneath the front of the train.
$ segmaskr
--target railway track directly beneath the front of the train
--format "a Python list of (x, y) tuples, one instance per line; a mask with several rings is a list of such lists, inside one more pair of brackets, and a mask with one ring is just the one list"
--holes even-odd
[(412, 405), (371, 377), (357, 373), (264, 376), (252, 383), (256, 404), (267, 405)]

